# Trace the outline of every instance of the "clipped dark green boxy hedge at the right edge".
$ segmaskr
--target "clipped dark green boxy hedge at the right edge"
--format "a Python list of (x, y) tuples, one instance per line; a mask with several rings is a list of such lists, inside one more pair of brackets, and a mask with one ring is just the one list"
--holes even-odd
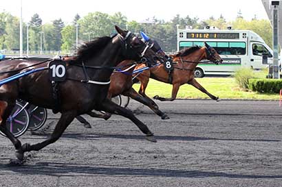
[(261, 93), (279, 93), (282, 79), (249, 79), (249, 89)]

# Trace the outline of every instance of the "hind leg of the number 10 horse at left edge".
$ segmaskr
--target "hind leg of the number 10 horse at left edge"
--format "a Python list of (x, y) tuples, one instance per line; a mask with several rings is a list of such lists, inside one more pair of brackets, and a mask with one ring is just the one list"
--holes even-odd
[(14, 134), (12, 134), (12, 132), (10, 132), (6, 128), (6, 121), (8, 119), (8, 116), (10, 116), (10, 113), (12, 112), (13, 108), (13, 104), (8, 105), (8, 102), (0, 101), (0, 131), (3, 132), (3, 134), (5, 134), (7, 138), (10, 139), (10, 141), (14, 145), (14, 148), (16, 149), (17, 159), (21, 162), (23, 160), (21, 142), (16, 137), (14, 137)]

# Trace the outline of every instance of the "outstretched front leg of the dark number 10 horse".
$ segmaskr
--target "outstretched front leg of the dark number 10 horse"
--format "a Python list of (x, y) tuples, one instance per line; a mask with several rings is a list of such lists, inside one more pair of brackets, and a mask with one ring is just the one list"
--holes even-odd
[(137, 119), (133, 112), (131, 110), (128, 110), (126, 108), (121, 107), (120, 105), (117, 105), (116, 103), (113, 103), (109, 99), (105, 99), (102, 103), (100, 103), (99, 110), (109, 112), (111, 114), (118, 114), (121, 116), (126, 117), (127, 119), (130, 119), (137, 127), (146, 134), (146, 139), (151, 142), (157, 142), (155, 140), (155, 137), (153, 136), (153, 133), (149, 130), (147, 125), (142, 123), (139, 119)]

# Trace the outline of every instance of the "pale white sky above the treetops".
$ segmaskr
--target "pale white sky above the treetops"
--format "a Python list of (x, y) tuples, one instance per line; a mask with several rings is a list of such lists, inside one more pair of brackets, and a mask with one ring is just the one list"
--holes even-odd
[(241, 10), (243, 18), (250, 20), (268, 16), (261, 0), (2, 0), (0, 12), (6, 10), (13, 16), (20, 16), (21, 1), (23, 3), (23, 21), (28, 22), (33, 14), (39, 14), (43, 23), (62, 18), (65, 23), (72, 22), (78, 13), (80, 17), (89, 12), (103, 12), (114, 14), (121, 12), (127, 16), (128, 21), (142, 22), (147, 18), (170, 21), (176, 14), (180, 16), (197, 17), (204, 20), (213, 16), (218, 18), (221, 14), (227, 21), (232, 21)]

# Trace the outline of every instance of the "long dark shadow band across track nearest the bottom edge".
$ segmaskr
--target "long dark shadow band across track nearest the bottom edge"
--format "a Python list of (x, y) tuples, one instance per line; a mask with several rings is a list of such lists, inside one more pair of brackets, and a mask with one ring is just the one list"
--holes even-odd
[(120, 167), (96, 167), (81, 164), (62, 164), (50, 162), (37, 162), (36, 166), (8, 167), (0, 164), (0, 171), (8, 170), (23, 175), (53, 175), (53, 176), (81, 176), (81, 175), (125, 175), (147, 177), (226, 177), (239, 179), (281, 179), (282, 175), (242, 175), (215, 171), (186, 171), (171, 169), (133, 169)]

